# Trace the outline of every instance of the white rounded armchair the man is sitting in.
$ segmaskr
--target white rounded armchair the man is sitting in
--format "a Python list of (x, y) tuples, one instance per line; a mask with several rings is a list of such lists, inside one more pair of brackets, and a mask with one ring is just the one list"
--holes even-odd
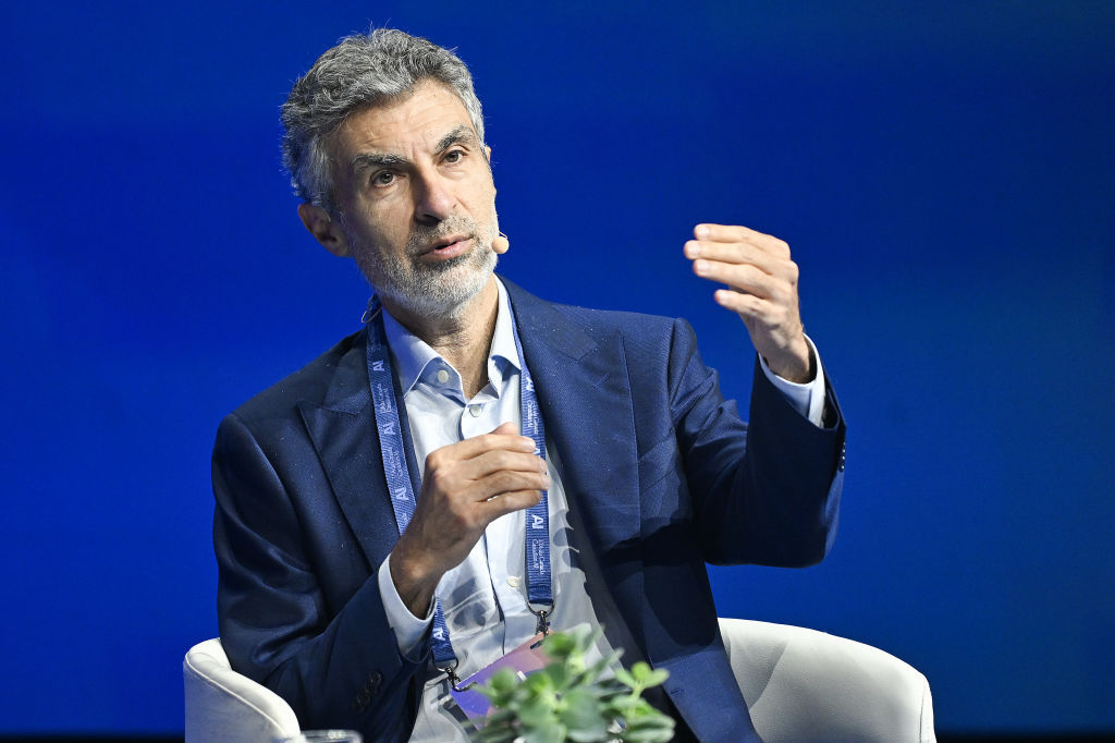
[[(766, 743), (927, 743), (929, 683), (892, 655), (786, 625), (720, 619), (728, 660)], [(299, 733), (290, 706), (232, 670), (220, 639), (195, 645), (182, 664), (186, 743), (271, 743)]]

